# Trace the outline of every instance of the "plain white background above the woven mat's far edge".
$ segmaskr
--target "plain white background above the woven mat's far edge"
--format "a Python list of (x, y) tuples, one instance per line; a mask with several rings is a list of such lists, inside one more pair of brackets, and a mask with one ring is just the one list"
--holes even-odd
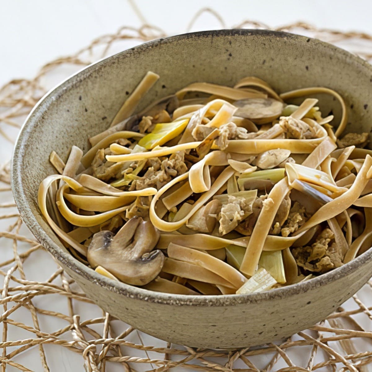
[[(134, 0), (135, 1), (135, 0)], [(170, 34), (185, 32), (202, 7), (212, 7), (231, 27), (244, 19), (271, 27), (298, 20), (321, 28), (372, 33), (370, 0), (138, 0), (148, 23)], [(0, 85), (32, 78), (45, 62), (68, 55), (97, 36), (141, 21), (128, 0), (0, 0)], [(221, 28), (213, 17), (199, 29)]]

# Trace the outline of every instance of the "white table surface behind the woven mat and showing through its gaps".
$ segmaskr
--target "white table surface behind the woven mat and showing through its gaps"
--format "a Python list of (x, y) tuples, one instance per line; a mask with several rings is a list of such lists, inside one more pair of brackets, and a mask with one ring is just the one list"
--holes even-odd
[[(168, 34), (185, 32), (189, 20), (202, 7), (213, 7), (222, 15), (227, 27), (237, 25), (245, 19), (264, 22), (272, 27), (302, 20), (320, 28), (372, 33), (372, 2), (367, 0), (141, 0), (135, 4), (148, 23), (162, 28)], [(141, 19), (133, 6), (125, 0), (0, 1), (0, 86), (13, 78), (32, 78), (38, 68), (46, 62), (62, 55), (72, 54), (88, 45), (94, 38), (114, 33), (123, 25), (135, 27), (141, 25)], [(195, 24), (193, 31), (214, 28), (221, 28), (221, 25), (214, 17), (206, 15)], [(0, 138), (0, 157), (9, 158), (10, 150), (11, 146)], [(7, 198), (10, 196), (8, 195)], [(1, 221), (0, 230), (3, 230)], [(10, 246), (8, 253), (4, 245), (1, 249), (5, 256), (8, 253), (12, 255)], [(45, 280), (54, 272), (55, 264), (45, 253), (36, 253), (35, 257), (38, 257), (39, 261), (34, 266), (28, 265), (26, 275), (32, 280)], [(361, 296), (363, 301), (368, 301), (367, 298), (363, 298), (363, 293)], [(59, 311), (67, 314), (67, 304), (62, 299), (51, 304), (48, 296), (43, 296), (38, 301), (38, 305), (44, 308), (57, 307)], [(102, 316), (97, 307), (89, 305), (75, 310), (81, 312), (82, 318)], [(15, 315), (15, 318), (17, 317), (19, 319), (28, 317), (28, 313), (19, 312)], [(25, 319), (23, 321), (26, 322)], [(31, 320), (27, 321), (31, 324)], [(42, 329), (44, 327), (44, 329), (54, 330), (65, 325), (58, 322), (61, 323), (51, 318), (40, 319)], [(15, 340), (23, 337), (27, 336), (16, 327), (9, 330), (8, 339)], [(133, 335), (132, 341), (139, 342), (136, 338), (138, 334)], [(163, 341), (156, 341), (144, 334), (142, 340), (148, 344), (156, 343), (158, 346), (165, 346)], [(361, 347), (363, 349), (364, 346)], [(45, 350), (52, 372), (84, 370), (81, 356), (57, 346), (46, 345)], [(135, 355), (133, 351), (131, 353)], [(139, 350), (137, 353), (137, 356), (143, 354)], [(261, 358), (262, 363), (257, 363), (257, 366), (260, 364), (263, 366), (269, 360), (268, 356)], [(301, 359), (301, 355), (294, 360), (298, 358)], [(42, 371), (38, 350), (35, 348), (21, 355), (17, 361), (35, 371)], [(7, 371), (15, 370), (12, 367), (7, 369)], [(122, 370), (119, 366), (112, 365), (107, 368), (107, 371)]]

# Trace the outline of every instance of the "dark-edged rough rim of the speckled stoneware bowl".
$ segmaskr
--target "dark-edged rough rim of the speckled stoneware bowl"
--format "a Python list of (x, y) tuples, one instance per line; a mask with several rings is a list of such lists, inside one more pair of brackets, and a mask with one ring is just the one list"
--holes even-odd
[[(127, 285), (125, 283), (117, 282), (115, 280), (106, 278), (102, 276), (89, 267), (85, 266), (83, 263), (76, 260), (70, 253), (64, 251), (61, 247), (54, 243), (47, 232), (39, 225), (35, 215), (32, 213), (29, 202), (25, 196), (23, 186), (22, 186), (22, 156), (26, 147), (26, 142), (28, 139), (28, 134), (32, 131), (33, 127), (38, 121), (38, 118), (48, 109), (48, 106), (55, 99), (58, 99), (65, 90), (68, 90), (75, 82), (80, 81), (89, 76), (90, 73), (95, 71), (100, 67), (100, 65), (106, 62), (118, 58), (122, 55), (129, 53), (140, 54), (142, 50), (147, 48), (152, 48), (158, 44), (163, 43), (173, 43), (177, 41), (182, 41), (183, 39), (190, 38), (201, 38), (201, 37), (218, 37), (218, 36), (234, 36), (234, 35), (263, 35), (263, 36), (273, 36), (276, 38), (286, 38), (295, 39), (298, 44), (304, 44), (305, 46), (309, 41), (313, 44), (323, 47), (328, 53), (336, 53), (341, 57), (347, 58), (349, 61), (362, 65), (368, 68), (372, 74), (372, 66), (362, 60), (362, 58), (357, 57), (343, 49), (337, 48), (334, 45), (328, 44), (326, 42), (320, 41), (318, 39), (311, 39), (307, 36), (296, 35), (292, 33), (286, 33), (282, 31), (269, 31), (269, 30), (256, 30), (256, 29), (221, 29), (221, 30), (211, 30), (211, 31), (201, 31), (201, 32), (190, 32), (181, 35), (170, 36), (168, 38), (156, 39), (144, 44), (138, 45), (137, 47), (119, 52), (118, 54), (112, 55), (107, 58), (103, 58), (83, 69), (78, 71), (73, 76), (67, 78), (57, 87), (51, 89), (48, 93), (42, 97), (41, 100), (35, 105), (30, 114), (28, 115), (25, 123), (23, 124), (19, 135), (16, 140), (16, 144), (13, 150), (12, 156), (12, 190), (15, 197), (17, 207), (19, 209), (22, 220), (25, 222), (27, 227), (35, 235), (36, 239), (42, 243), (42, 245), (47, 248), (47, 250), (57, 258), (61, 263), (68, 266), (71, 270), (81, 275), (83, 278), (96, 283), (98, 286), (114, 291), (116, 293), (128, 296), (131, 298), (141, 299), (150, 302), (157, 302), (161, 304), (173, 304), (173, 305), (193, 305), (193, 306), (229, 306), (234, 304), (246, 304), (246, 303), (257, 303), (261, 301), (266, 301), (270, 299), (284, 299), (288, 296), (295, 295), (298, 293), (303, 293), (307, 291), (312, 291), (319, 288), (320, 286), (337, 280), (344, 276), (349, 275), (354, 272), (357, 268), (362, 266), (368, 260), (372, 259), (372, 250), (369, 249), (359, 257), (356, 257), (351, 262), (344, 264), (343, 266), (334, 269), (328, 273), (317, 276), (313, 279), (307, 280), (305, 282), (296, 283), (293, 285), (285, 286), (282, 288), (272, 289), (266, 292), (259, 292), (249, 295), (219, 295), (219, 296), (190, 296), (190, 295), (173, 295), (161, 292), (148, 291), (146, 289), (134, 287)], [(349, 62), (350, 63), (350, 62)]]

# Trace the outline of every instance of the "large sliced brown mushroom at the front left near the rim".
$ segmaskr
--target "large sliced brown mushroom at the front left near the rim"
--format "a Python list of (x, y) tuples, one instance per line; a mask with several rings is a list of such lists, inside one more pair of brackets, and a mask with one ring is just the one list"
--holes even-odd
[(88, 262), (93, 268), (104, 267), (124, 283), (145, 285), (163, 267), (163, 253), (153, 250), (159, 236), (151, 222), (135, 216), (116, 235), (111, 231), (94, 234), (88, 247)]

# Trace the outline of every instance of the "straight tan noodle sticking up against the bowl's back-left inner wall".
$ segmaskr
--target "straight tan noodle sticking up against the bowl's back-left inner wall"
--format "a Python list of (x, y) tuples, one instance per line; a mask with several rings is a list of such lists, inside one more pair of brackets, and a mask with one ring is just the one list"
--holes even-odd
[(125, 100), (110, 126), (114, 126), (132, 115), (142, 97), (151, 89), (159, 77), (158, 74), (148, 71), (140, 81), (140, 84), (137, 85), (132, 94)]

